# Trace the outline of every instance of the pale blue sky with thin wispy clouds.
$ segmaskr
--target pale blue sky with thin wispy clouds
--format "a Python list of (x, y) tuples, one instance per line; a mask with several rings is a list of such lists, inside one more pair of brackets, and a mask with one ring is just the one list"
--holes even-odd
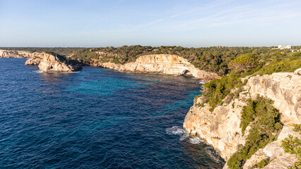
[(0, 46), (301, 45), (300, 0), (0, 0)]

